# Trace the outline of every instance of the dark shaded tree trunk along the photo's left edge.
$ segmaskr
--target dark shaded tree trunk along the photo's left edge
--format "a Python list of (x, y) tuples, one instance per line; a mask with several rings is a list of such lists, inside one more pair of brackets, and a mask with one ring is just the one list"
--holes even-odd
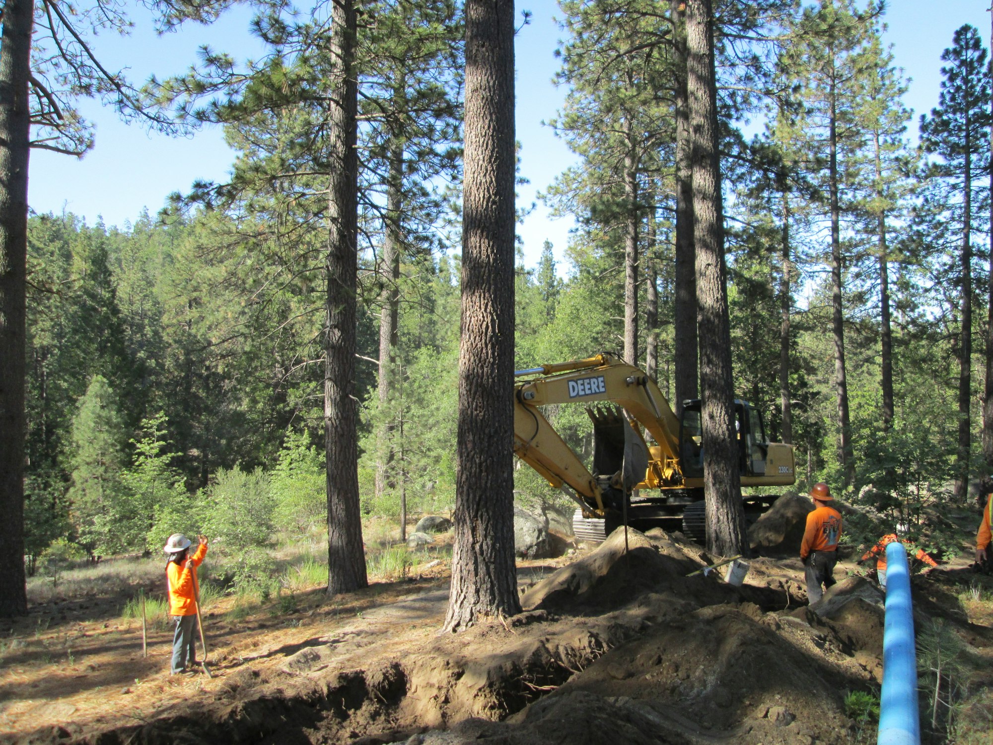
[(24, 576), (24, 439), (28, 79), (34, 4), (6, 0), (0, 40), (0, 616), (28, 612)]

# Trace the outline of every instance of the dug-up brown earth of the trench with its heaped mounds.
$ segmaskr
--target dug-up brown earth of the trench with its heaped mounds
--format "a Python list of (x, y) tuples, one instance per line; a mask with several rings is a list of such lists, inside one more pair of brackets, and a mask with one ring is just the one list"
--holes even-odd
[(631, 531), (626, 553), (619, 533), (527, 588), (531, 610), (506, 623), (409, 654), (315, 645), (154, 720), (21, 742), (843, 741), (844, 690), (866, 687), (881, 655), (875, 606), (835, 623), (785, 577), (687, 577), (707, 560), (698, 548)]

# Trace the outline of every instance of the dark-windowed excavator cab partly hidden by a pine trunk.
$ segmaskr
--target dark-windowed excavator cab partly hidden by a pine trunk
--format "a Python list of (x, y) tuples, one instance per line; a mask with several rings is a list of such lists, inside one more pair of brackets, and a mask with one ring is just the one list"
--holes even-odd
[[(683, 401), (679, 422), (679, 456), (683, 477), (703, 477), (703, 425), (699, 398)], [(742, 476), (763, 476), (769, 440), (762, 412), (748, 401), (735, 399), (735, 431), (738, 435), (738, 465)]]

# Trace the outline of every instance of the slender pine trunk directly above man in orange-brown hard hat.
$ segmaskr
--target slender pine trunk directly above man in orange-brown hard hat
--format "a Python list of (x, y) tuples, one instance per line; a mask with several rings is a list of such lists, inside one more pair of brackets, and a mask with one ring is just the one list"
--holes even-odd
[(841, 208), (838, 205), (838, 109), (832, 71), (828, 104), (828, 191), (831, 200), (831, 329), (834, 336), (834, 386), (838, 404), (838, 464), (845, 486), (855, 481), (855, 456), (852, 452), (852, 428), (848, 416), (848, 377), (845, 373), (845, 319), (841, 296)]

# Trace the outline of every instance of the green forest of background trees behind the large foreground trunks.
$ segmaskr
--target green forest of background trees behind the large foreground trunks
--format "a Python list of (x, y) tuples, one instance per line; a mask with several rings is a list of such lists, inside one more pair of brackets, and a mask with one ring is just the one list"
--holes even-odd
[[(718, 3), (714, 35), (735, 393), (795, 446), (798, 489), (826, 481), (912, 518), (964, 500), (993, 466), (984, 43), (967, 25), (948, 40), (940, 100), (915, 122), (882, 6), (759, 5)], [(550, 124), (578, 164), (544, 199), (577, 227), (564, 262), (550, 244), (535, 266), (518, 253), (514, 288), (517, 369), (617, 351), (675, 405), (697, 359), (678, 331), (695, 306), (677, 276), (677, 6), (561, 3), (568, 93)], [(464, 33), (456, 3), (364, 13), (378, 23), (355, 47), (358, 492), (363, 515), (395, 518), (401, 495), (413, 513), (455, 504)], [(29, 571), (59, 539), (157, 551), (210, 529), (246, 550), (326, 518), (335, 70), (313, 19), (260, 12), (255, 33), (265, 64), (218, 54), (141, 91), (157, 115), (224, 127), (229, 183), (132, 224), (30, 217)], [(550, 418), (590, 454), (582, 410)], [(563, 499), (514, 476), (525, 504)]]

